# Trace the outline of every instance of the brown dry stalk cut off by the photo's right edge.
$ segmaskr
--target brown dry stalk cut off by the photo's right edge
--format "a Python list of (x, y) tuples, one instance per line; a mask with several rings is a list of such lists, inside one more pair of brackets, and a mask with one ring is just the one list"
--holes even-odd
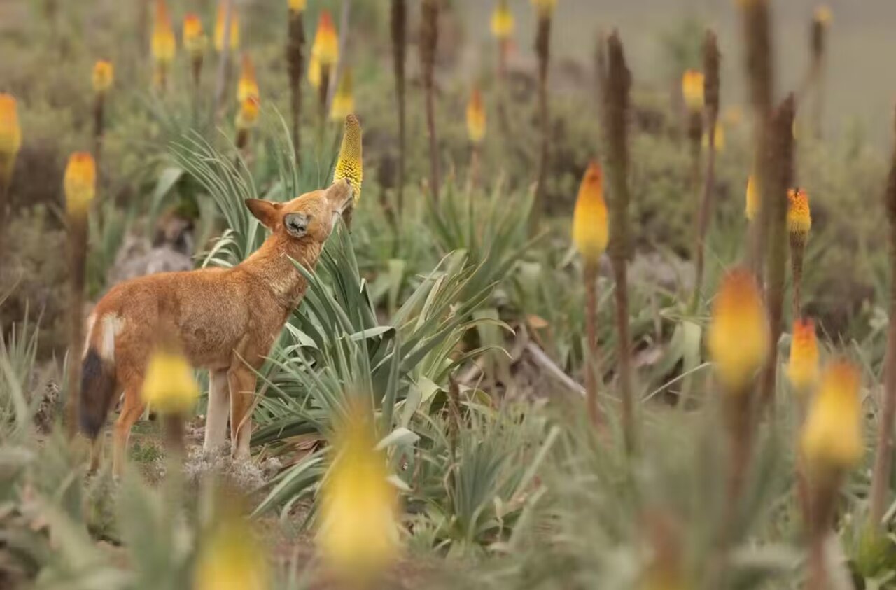
[[(893, 148), (883, 206), (890, 225), (890, 317), (896, 318), (896, 147)], [(870, 517), (874, 526), (881, 525), (890, 487), (894, 418), (896, 418), (896, 321), (891, 321), (887, 329), (887, 353), (883, 365), (883, 408), (877, 431), (874, 475), (871, 480)]]

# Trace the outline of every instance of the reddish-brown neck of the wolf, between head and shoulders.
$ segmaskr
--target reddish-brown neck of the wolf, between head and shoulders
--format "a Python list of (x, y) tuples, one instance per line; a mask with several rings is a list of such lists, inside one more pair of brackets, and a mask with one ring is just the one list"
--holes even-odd
[(307, 288), (305, 278), (289, 259), (311, 270), (320, 254), (319, 244), (295, 244), (279, 235), (271, 235), (237, 269), (252, 275), (270, 289), (280, 305), (289, 311), (298, 304)]

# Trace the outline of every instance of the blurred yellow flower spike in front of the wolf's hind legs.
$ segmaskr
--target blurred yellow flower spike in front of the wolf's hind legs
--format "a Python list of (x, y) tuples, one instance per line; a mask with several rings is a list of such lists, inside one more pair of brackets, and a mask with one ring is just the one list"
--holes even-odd
[(162, 415), (183, 415), (199, 399), (193, 369), (183, 355), (158, 350), (150, 357), (143, 380), (143, 401)]

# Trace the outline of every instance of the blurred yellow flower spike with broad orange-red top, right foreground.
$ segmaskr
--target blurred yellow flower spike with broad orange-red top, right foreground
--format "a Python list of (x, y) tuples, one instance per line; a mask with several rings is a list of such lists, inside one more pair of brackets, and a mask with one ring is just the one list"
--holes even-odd
[(770, 348), (762, 295), (746, 269), (732, 270), (722, 280), (707, 339), (719, 381), (728, 393), (746, 393)]

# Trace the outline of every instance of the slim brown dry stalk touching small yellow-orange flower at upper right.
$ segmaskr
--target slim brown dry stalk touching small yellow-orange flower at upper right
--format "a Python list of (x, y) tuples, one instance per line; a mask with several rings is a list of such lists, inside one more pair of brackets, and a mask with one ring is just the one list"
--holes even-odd
[(706, 115), (706, 127), (709, 141), (709, 153), (706, 159), (706, 178), (703, 183), (703, 196), (700, 203), (700, 212), (697, 217), (697, 248), (694, 273), (694, 299), (692, 309), (696, 311), (700, 303), (700, 295), (703, 286), (703, 267), (705, 265), (706, 232), (710, 227), (712, 215), (712, 193), (715, 189), (716, 174), (716, 124), (719, 122), (719, 90), (721, 82), (719, 78), (719, 39), (716, 34), (706, 31), (703, 40), (703, 96)]

